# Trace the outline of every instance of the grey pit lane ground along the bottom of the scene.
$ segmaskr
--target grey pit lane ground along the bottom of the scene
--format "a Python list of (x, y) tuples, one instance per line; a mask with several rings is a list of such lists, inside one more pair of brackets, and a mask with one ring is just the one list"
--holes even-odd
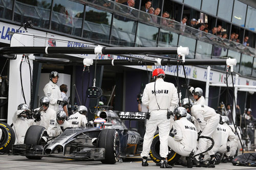
[[(63, 158), (43, 157), (41, 160), (30, 160), (24, 156), (0, 155), (0, 169), (159, 169), (153, 161), (148, 161), (147, 167), (141, 166), (139, 157), (126, 158), (122, 163), (102, 164), (100, 161), (77, 161)], [(231, 163), (221, 163), (215, 168), (207, 169), (255, 169), (256, 167), (233, 166)], [(173, 166), (173, 169), (190, 169), (180, 165)], [(193, 167), (193, 169), (205, 169), (204, 167)]]

